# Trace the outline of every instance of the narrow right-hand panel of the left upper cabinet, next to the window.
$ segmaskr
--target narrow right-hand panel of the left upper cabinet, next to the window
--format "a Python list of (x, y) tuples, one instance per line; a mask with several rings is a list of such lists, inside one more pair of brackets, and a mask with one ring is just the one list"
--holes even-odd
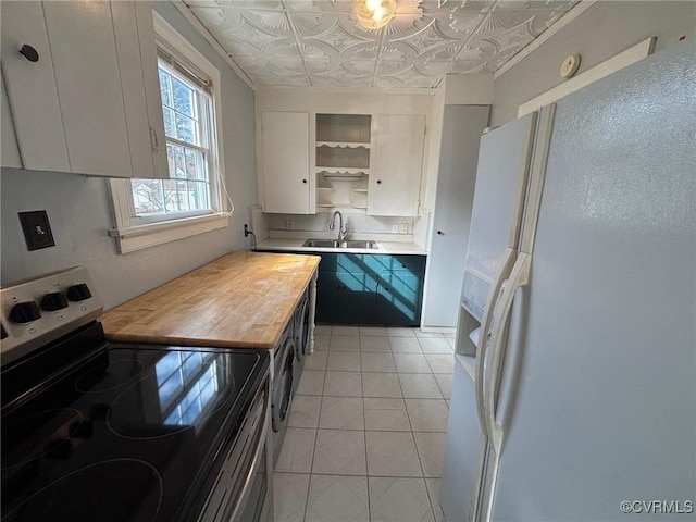
[(113, 2), (134, 177), (169, 178), (150, 2)]

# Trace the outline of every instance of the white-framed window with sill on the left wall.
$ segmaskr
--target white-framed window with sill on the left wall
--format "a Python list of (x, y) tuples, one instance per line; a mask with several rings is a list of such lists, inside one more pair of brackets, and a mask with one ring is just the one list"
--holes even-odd
[[(169, 179), (111, 181), (119, 250), (127, 253), (227, 226), (220, 73), (153, 13)], [(229, 201), (229, 207), (232, 202)]]

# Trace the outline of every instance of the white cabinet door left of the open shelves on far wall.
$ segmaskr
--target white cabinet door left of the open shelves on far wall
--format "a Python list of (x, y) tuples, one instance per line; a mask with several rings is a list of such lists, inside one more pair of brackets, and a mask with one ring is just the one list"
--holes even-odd
[(309, 214), (309, 113), (261, 113), (263, 211)]

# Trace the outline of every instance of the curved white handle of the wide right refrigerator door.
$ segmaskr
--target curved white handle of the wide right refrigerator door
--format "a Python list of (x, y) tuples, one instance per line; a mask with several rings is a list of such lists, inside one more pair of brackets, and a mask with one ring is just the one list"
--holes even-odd
[(504, 344), (506, 330), (510, 319), (514, 295), (518, 289), (526, 286), (530, 282), (531, 264), (532, 256), (521, 252), (510, 274), (510, 281), (505, 286), (502, 295), (500, 296), (499, 306), (496, 306), (496, 313), (492, 320), (495, 327), (490, 335), (490, 349), (488, 350), (490, 361), (484, 361), (485, 376), (483, 388), (486, 433), (490, 440), (490, 446), (497, 456), (500, 456), (500, 449), (502, 447), (504, 426), (496, 423), (496, 394), (498, 393), (502, 373), (502, 362), (505, 361)]

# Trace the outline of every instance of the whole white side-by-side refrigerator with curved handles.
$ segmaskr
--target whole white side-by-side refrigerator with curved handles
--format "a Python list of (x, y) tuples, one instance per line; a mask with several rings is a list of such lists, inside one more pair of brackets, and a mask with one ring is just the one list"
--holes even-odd
[(675, 45), (482, 138), (448, 522), (696, 517), (694, 85)]

